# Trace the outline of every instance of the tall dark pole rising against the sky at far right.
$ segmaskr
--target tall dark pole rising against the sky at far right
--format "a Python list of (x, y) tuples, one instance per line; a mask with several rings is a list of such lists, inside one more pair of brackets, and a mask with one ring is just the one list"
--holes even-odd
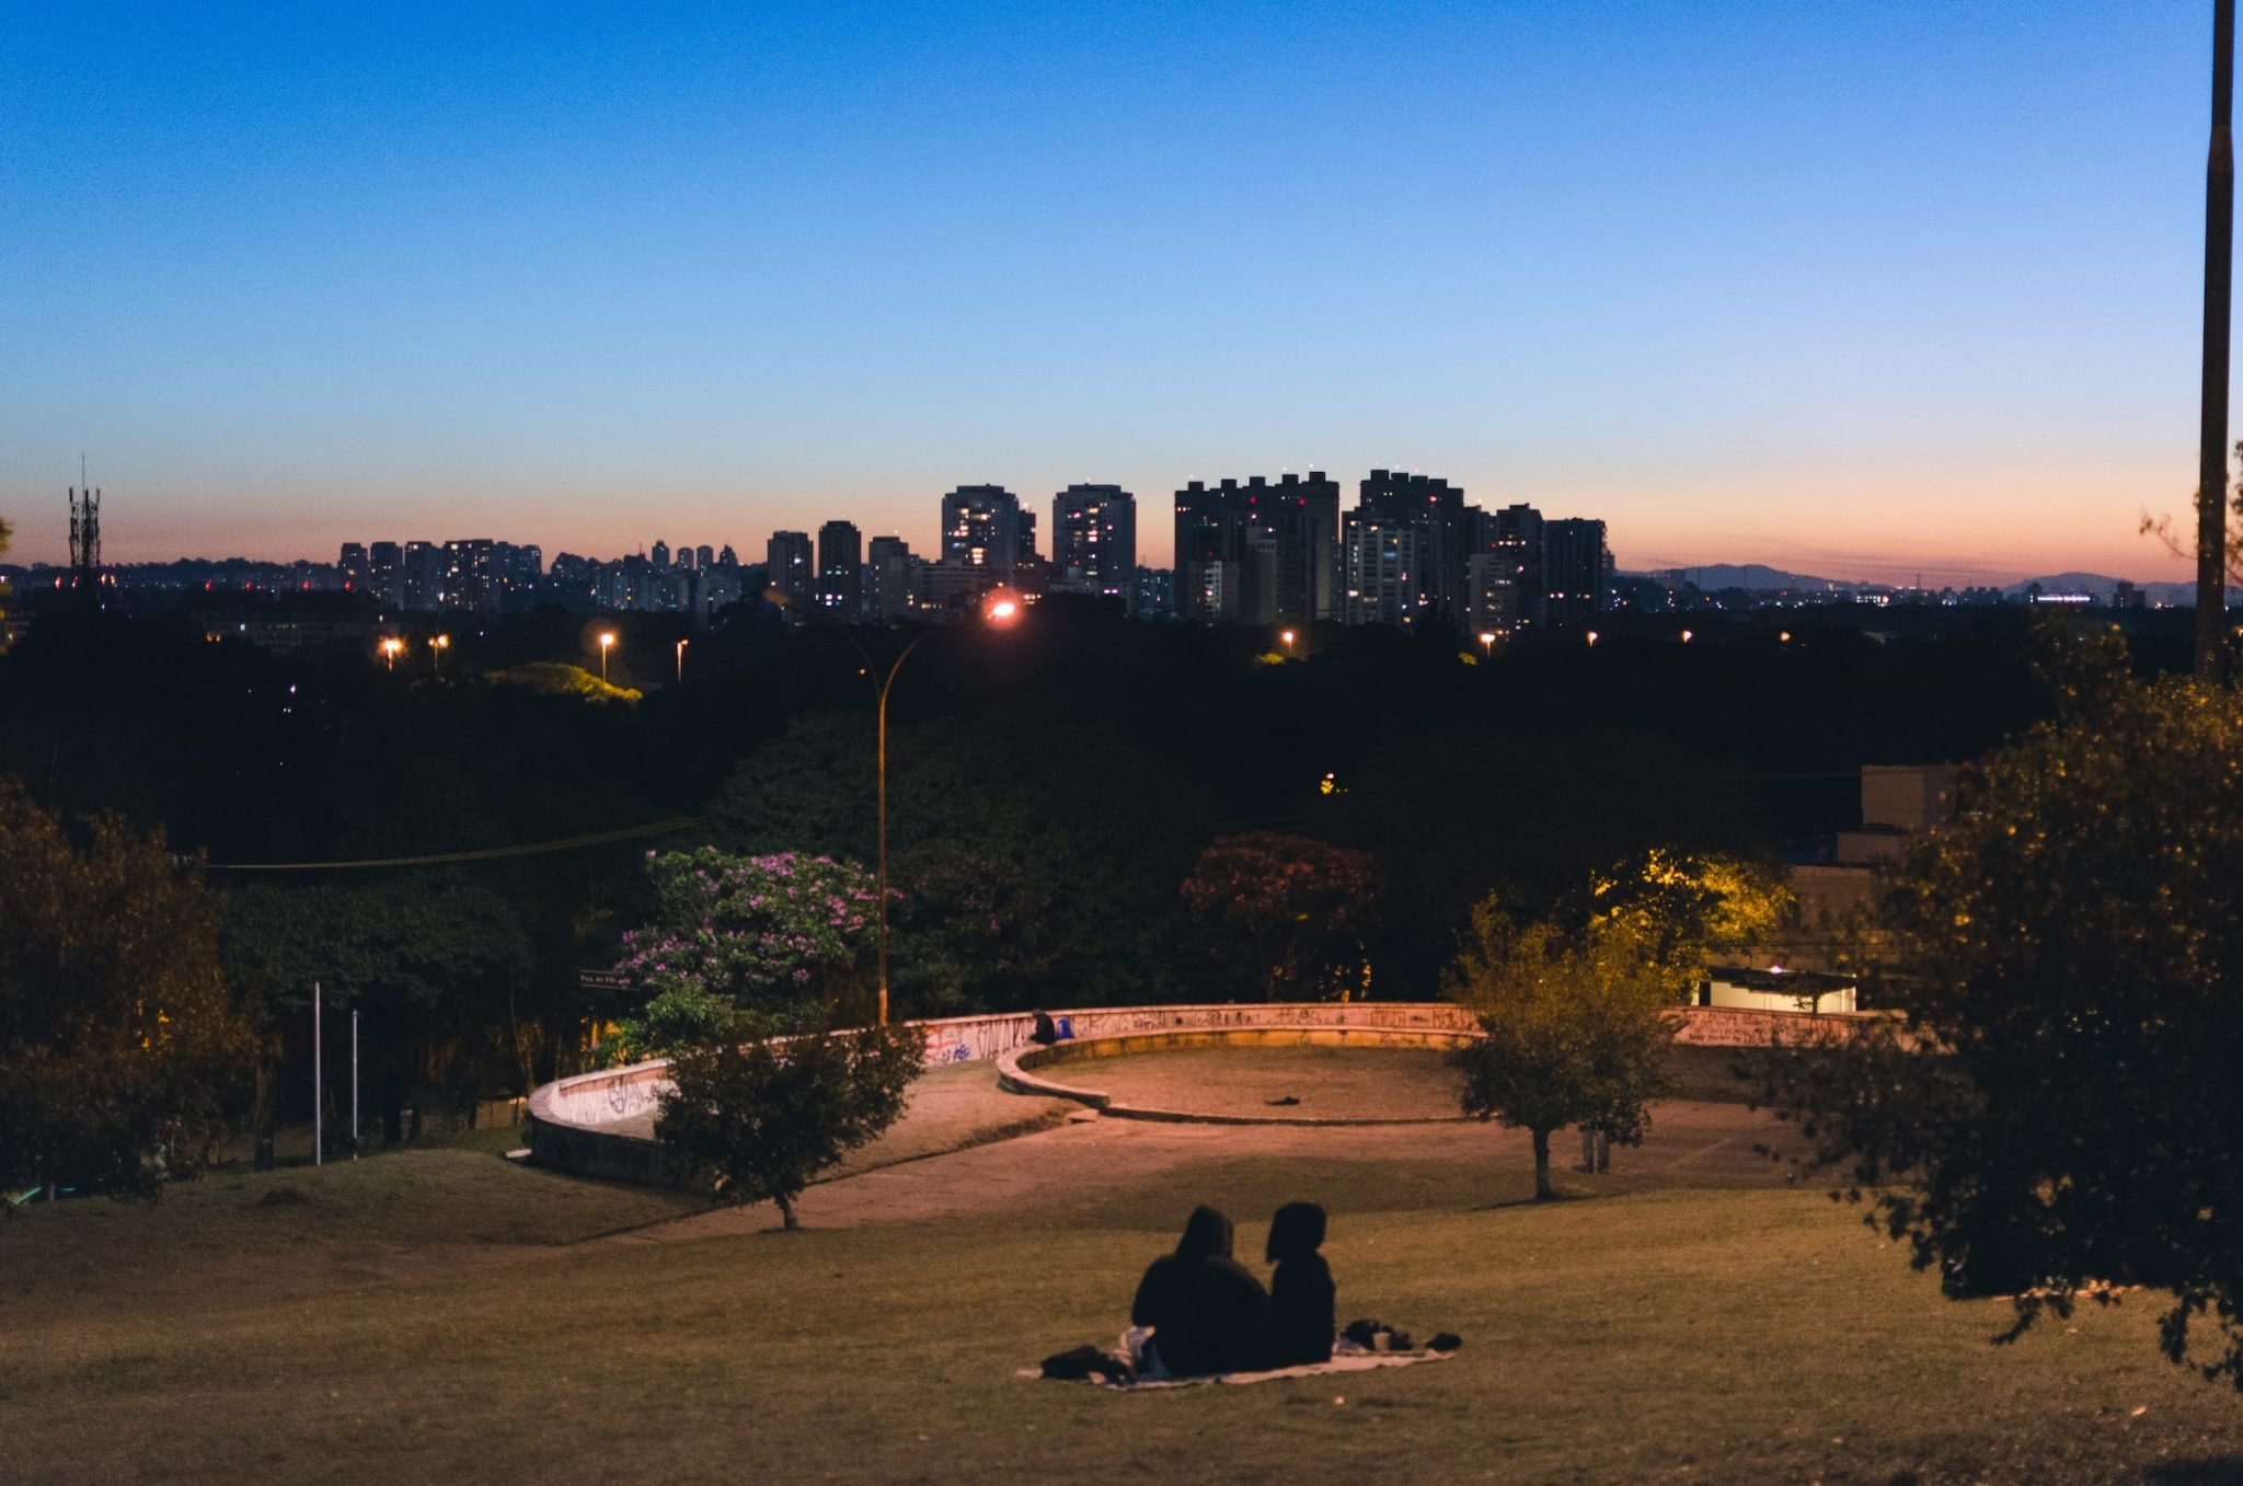
[(2227, 327), (2232, 321), (2236, 0), (2212, 0), (2212, 150), (2205, 159), (2205, 397), (2196, 444), (2196, 679), (2227, 675)]

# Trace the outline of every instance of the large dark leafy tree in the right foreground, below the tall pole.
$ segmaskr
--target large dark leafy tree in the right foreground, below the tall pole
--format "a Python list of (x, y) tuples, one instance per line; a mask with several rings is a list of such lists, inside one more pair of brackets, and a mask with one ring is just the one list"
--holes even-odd
[(2012, 1336), (2106, 1282), (2164, 1289), (2167, 1356), (2216, 1318), (2203, 1369), (2243, 1387), (2243, 699), (2099, 646), (1907, 863), (1904, 1022), (1785, 1056), (1770, 1100), (1918, 1269), (2014, 1295)]

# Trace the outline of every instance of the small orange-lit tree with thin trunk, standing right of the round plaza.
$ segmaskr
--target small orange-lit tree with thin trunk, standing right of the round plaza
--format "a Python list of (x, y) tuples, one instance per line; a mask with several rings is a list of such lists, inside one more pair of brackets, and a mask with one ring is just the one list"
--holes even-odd
[(1494, 899), (1471, 912), (1447, 975), (1451, 1000), (1480, 1022), (1456, 1053), (1462, 1107), (1534, 1139), (1534, 1199), (1548, 1201), (1550, 1132), (1588, 1125), (1640, 1145), (1649, 1100), (1664, 1089), (1669, 979), (1624, 921), (1568, 932), (1519, 928)]

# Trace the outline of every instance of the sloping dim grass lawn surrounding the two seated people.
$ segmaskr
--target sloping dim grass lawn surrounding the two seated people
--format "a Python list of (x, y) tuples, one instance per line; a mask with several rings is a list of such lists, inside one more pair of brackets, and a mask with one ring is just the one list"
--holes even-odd
[[(819, 1188), (796, 1235), (559, 1244), (684, 1199), (464, 1152), (229, 1177), (159, 1208), (56, 1204), (0, 1226), (0, 1475), (2243, 1479), (2243, 1399), (2156, 1356), (2156, 1300), (1992, 1347), (2007, 1307), (1942, 1302), (1815, 1192), (1570, 1174), (1617, 1195), (1534, 1206), (1516, 1201), (1521, 1143), (1494, 1130), (1350, 1148), (1104, 1125)], [(841, 1213), (857, 1183), (933, 1190), (953, 1170), (1034, 1172), (1139, 1139), (1182, 1154), (1157, 1172), (1108, 1161), (1095, 1206), (1039, 1201), (1030, 1181), (978, 1215), (816, 1226), (819, 1195)], [(1283, 1154), (1256, 1157), (1256, 1139)], [(307, 1201), (267, 1206), (276, 1188)], [(1456, 1329), (1465, 1352), (1166, 1394), (1012, 1376), (1113, 1340), (1187, 1192), (1240, 1219), (1319, 1197), (1341, 1318)], [(1243, 1222), (1240, 1255), (1258, 1244)]]

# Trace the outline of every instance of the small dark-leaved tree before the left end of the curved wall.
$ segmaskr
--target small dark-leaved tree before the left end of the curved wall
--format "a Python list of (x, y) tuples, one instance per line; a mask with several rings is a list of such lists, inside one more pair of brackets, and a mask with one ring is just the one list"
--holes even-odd
[(794, 1199), (902, 1116), (922, 1053), (908, 1027), (830, 1024), (695, 1049), (671, 1065), (655, 1136), (682, 1179), (707, 1179), (718, 1201), (772, 1199), (799, 1228)]

